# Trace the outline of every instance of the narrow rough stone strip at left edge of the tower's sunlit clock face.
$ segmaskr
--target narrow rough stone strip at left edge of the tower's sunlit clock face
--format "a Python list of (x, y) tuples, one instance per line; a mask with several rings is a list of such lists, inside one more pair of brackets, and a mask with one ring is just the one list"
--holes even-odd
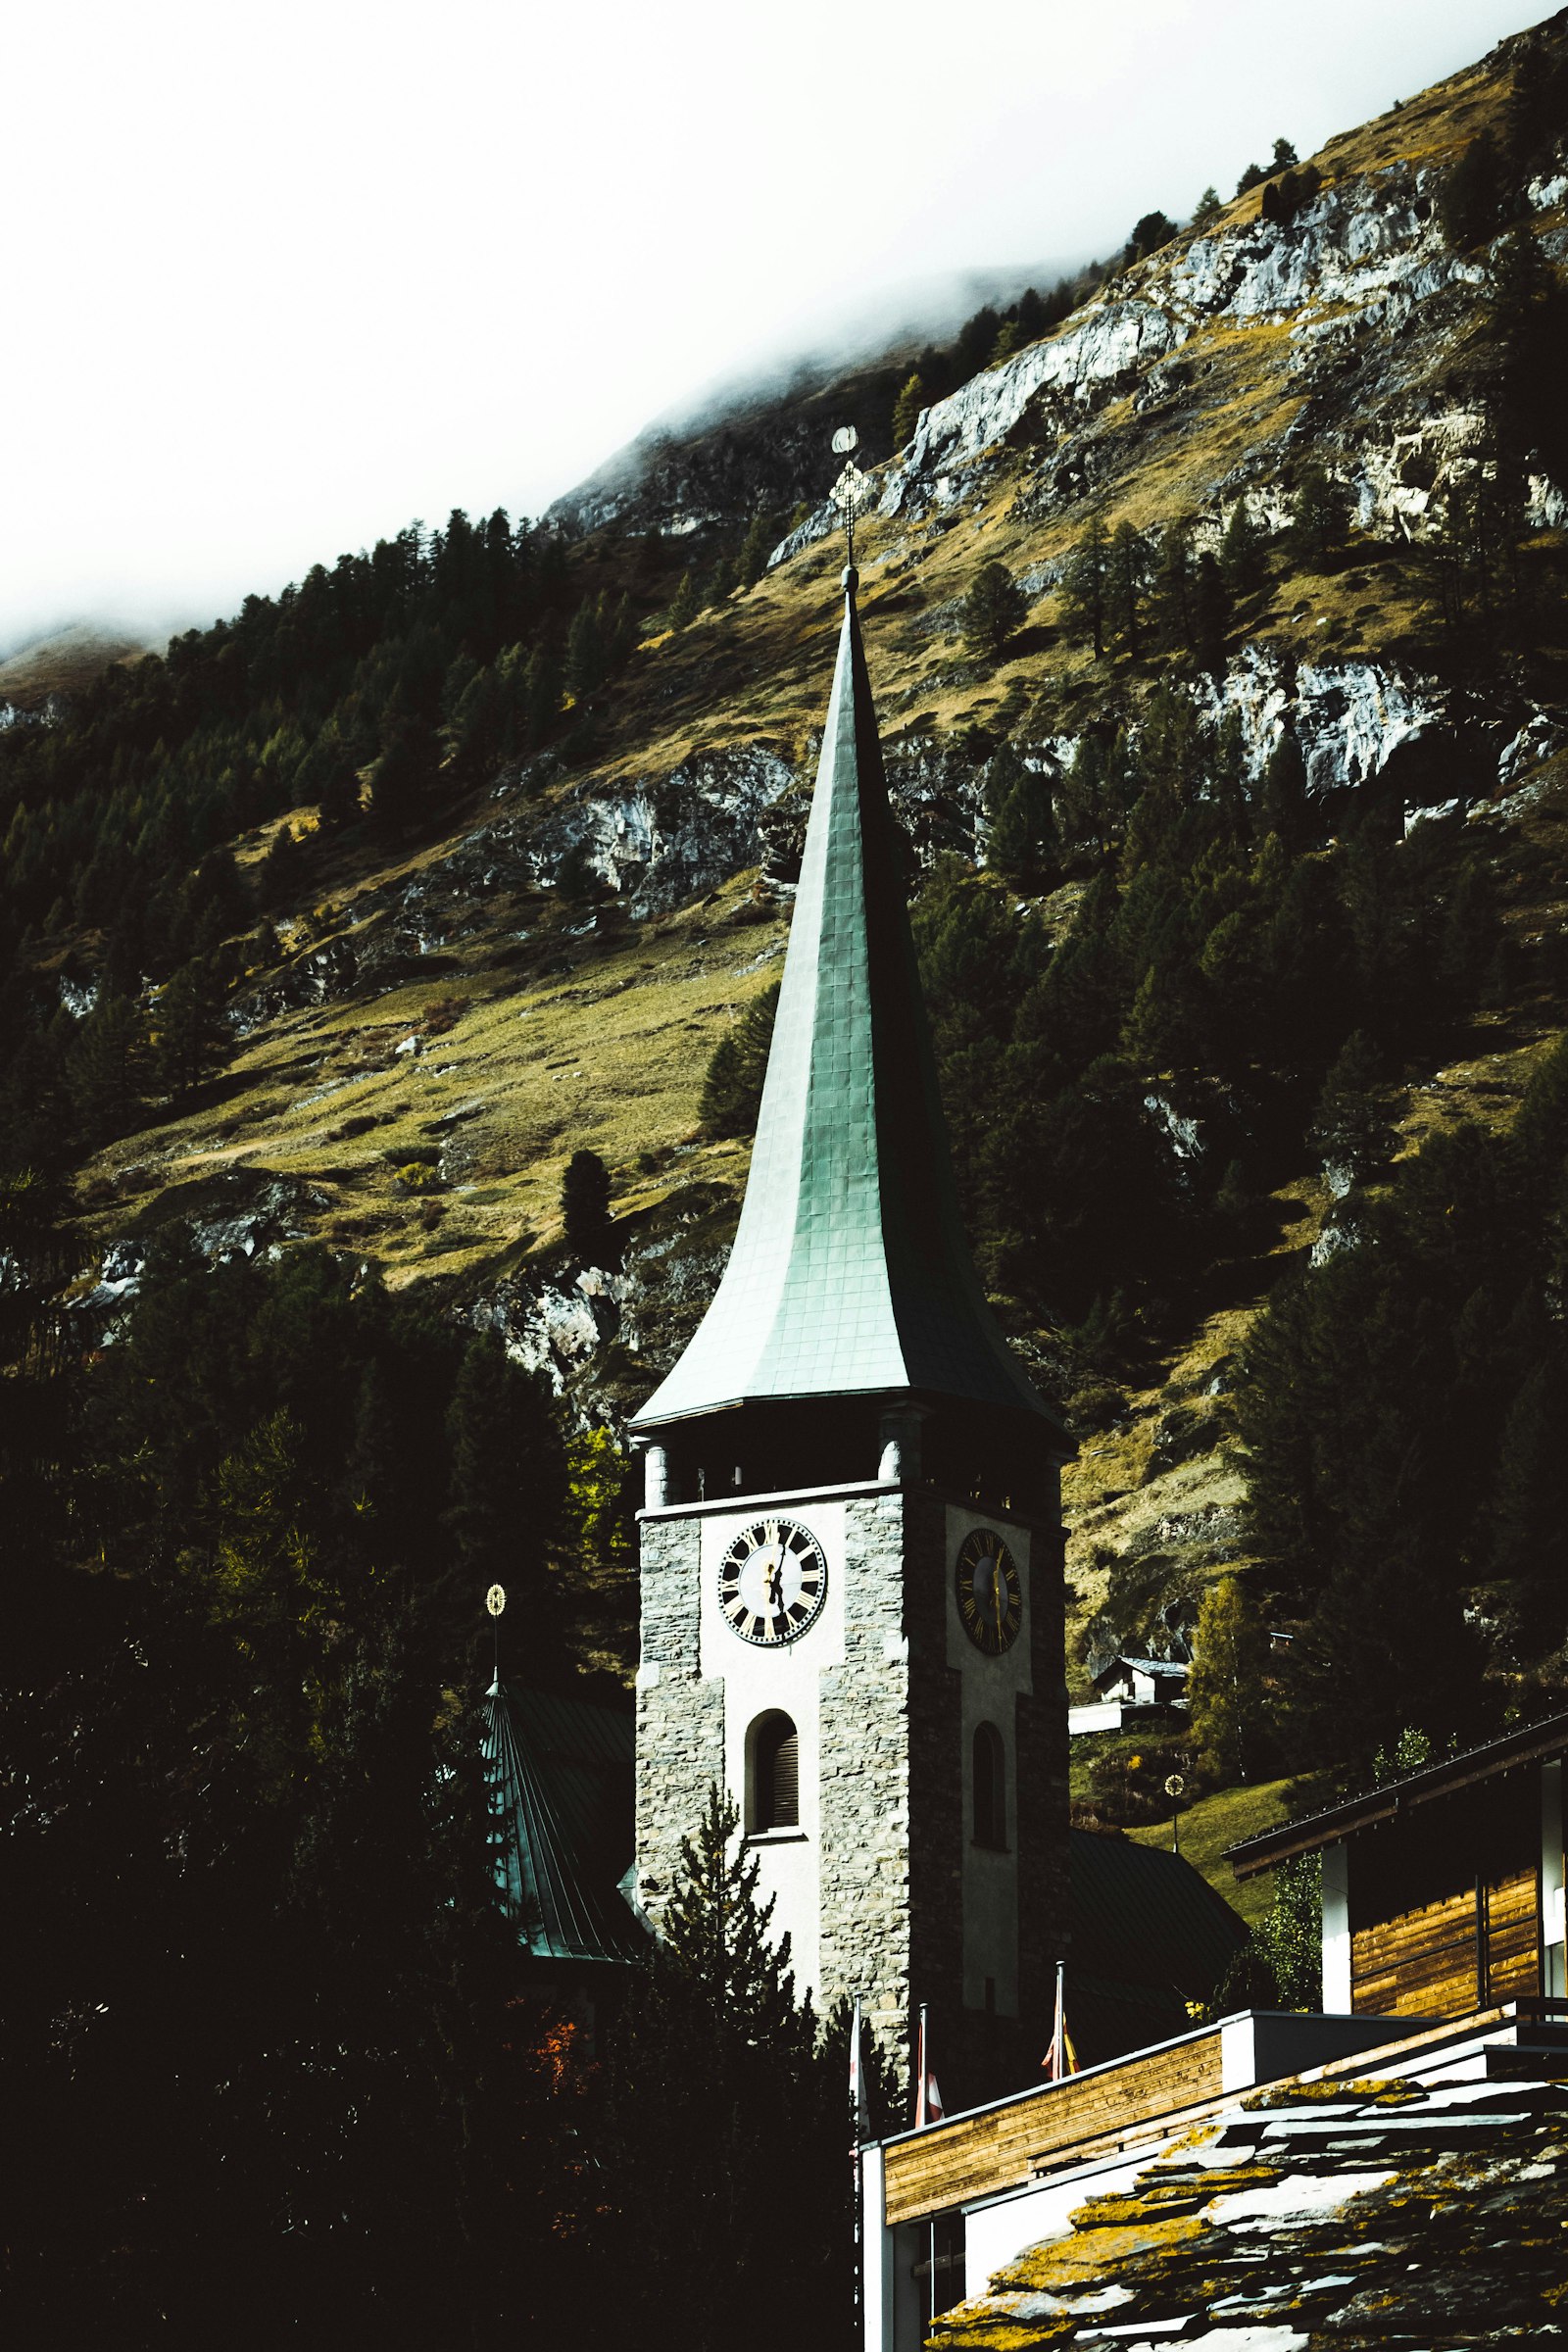
[(724, 1788), (724, 1684), (698, 1677), (701, 1597), (701, 1519), (644, 1519), (637, 1893), (651, 1919), (670, 1898), (708, 1788)]

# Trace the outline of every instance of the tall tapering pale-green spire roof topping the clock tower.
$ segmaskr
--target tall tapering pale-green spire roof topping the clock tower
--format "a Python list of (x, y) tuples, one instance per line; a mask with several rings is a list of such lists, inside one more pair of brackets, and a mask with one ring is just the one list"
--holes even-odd
[(1046, 1414), (980, 1294), (947, 1157), (856, 574), (741, 1228), (637, 1414), (919, 1395)]

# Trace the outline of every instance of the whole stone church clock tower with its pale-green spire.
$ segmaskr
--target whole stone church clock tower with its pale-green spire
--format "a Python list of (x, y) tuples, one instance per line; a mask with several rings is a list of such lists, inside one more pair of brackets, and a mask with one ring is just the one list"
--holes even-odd
[(818, 2011), (907, 2074), (929, 2004), (950, 2110), (1039, 2082), (1070, 1446), (959, 1223), (853, 569), (741, 1225), (632, 1442), (642, 1903), (717, 1783)]

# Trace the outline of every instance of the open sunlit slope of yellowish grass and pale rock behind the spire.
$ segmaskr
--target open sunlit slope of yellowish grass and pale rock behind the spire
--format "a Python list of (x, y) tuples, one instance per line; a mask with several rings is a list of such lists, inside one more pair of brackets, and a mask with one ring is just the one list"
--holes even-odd
[[(1281, 581), (1222, 666), (1166, 689), (1206, 729), (1239, 724), (1248, 783), (1288, 729), (1312, 797), (1354, 809), (1378, 793), (1408, 826), (1469, 809), (1488, 837), (1523, 844), (1528, 870), (1544, 854), (1526, 833), (1561, 790), (1561, 684), (1549, 666), (1483, 675), (1443, 659), (1415, 593), (1420, 550), (1476, 466), (1469, 353), (1497, 259), (1453, 249), (1439, 193), (1495, 118), (1505, 66), (1333, 141), (1291, 221), (1251, 195), (1178, 235), (929, 407), (896, 454), (896, 369), (867, 369), (665, 435), (557, 520), (682, 536), (823, 501), (830, 428), (858, 421), (875, 485), (863, 614), (893, 800), (922, 866), (980, 863), (999, 741), (1063, 783), (1088, 736), (1145, 724), (1147, 666), (1095, 663), (1063, 628), (1058, 588), (1088, 517), (1133, 517), (1154, 548), (1178, 524), (1215, 546), (1239, 503), (1279, 529), (1309, 454), (1354, 506), (1352, 555), (1333, 581)], [(1533, 181), (1533, 226), (1556, 256), (1566, 200), (1568, 169)], [(1540, 527), (1561, 524), (1563, 485), (1537, 477), (1530, 499)], [(715, 1042), (778, 974), (837, 628), (832, 529), (816, 503), (755, 590), (649, 640), (585, 724), (571, 713), (545, 757), (477, 786), (442, 837), (367, 854), (280, 910), (287, 953), (240, 997), (223, 1089), (101, 1155), (94, 1312), (129, 1296), (146, 1221), (167, 1204), (214, 1251), (322, 1235), (378, 1256), (393, 1282), (440, 1282), (451, 1312), (501, 1329), (581, 1421), (614, 1423), (646, 1395), (712, 1294), (745, 1174), (745, 1150), (705, 1141), (696, 1108)], [(997, 666), (961, 635), (992, 557), (1030, 600)], [(1542, 901), (1528, 920), (1559, 917)], [(1472, 1101), (1465, 1075), (1432, 1087), (1432, 1101)], [(1150, 1110), (1175, 1160), (1204, 1150), (1187, 1105), (1154, 1087)], [(557, 1240), (559, 1171), (583, 1143), (616, 1185), (611, 1268), (569, 1263)], [(1293, 1247), (1342, 1247), (1333, 1181), (1302, 1169), (1295, 1192)], [(1166, 1639), (1204, 1576), (1239, 1557), (1222, 1385), (1244, 1329), (1241, 1310), (1211, 1317), (1091, 1430), (1070, 1477), (1070, 1573), (1107, 1642)]]

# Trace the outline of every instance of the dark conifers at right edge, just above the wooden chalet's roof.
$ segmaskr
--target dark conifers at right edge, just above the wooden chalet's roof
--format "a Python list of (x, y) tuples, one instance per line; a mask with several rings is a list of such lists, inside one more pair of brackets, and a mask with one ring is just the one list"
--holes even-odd
[[(1356, 1176), (1382, 1155), (1368, 1077), (1340, 1091)], [(1359, 1185), (1342, 1247), (1248, 1341), (1248, 1508), (1274, 1606), (1302, 1621), (1295, 1764), (1354, 1771), (1406, 1724), (1472, 1740), (1568, 1679), (1566, 1207), (1559, 1044), (1512, 1131), (1434, 1136)]]

